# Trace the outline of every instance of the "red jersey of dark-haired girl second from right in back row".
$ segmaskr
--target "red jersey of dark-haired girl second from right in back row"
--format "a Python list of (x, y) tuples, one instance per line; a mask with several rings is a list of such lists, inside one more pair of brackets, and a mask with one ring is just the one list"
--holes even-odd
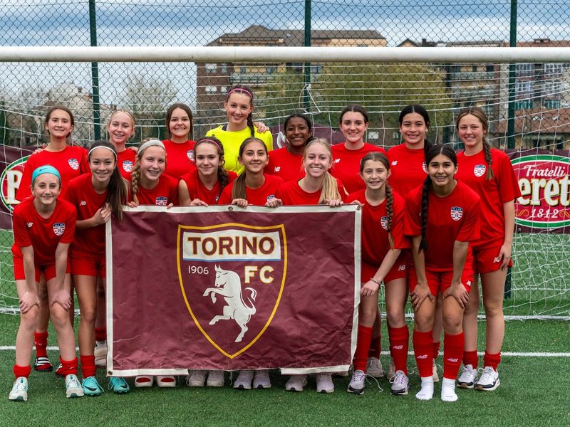
[(405, 144), (396, 145), (388, 150), (390, 178), (388, 182), (394, 191), (406, 196), (427, 177), (423, 148), (409, 149)]

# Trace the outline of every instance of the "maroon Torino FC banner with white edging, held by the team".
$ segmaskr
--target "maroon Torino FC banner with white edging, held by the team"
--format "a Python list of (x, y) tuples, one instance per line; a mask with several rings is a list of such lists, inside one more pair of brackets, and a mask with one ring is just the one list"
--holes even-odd
[(107, 225), (110, 375), (346, 371), (358, 206), (127, 209)]

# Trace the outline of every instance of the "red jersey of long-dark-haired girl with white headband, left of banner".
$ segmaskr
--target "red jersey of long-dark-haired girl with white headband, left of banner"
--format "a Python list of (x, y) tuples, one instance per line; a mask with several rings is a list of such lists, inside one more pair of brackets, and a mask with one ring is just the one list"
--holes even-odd
[[(91, 183), (91, 174), (83, 174), (69, 181), (66, 200), (77, 209), (77, 219), (89, 219), (105, 206), (107, 191), (98, 194)], [(81, 252), (89, 256), (105, 254), (105, 224), (96, 227), (78, 228), (71, 243), (72, 252)]]

